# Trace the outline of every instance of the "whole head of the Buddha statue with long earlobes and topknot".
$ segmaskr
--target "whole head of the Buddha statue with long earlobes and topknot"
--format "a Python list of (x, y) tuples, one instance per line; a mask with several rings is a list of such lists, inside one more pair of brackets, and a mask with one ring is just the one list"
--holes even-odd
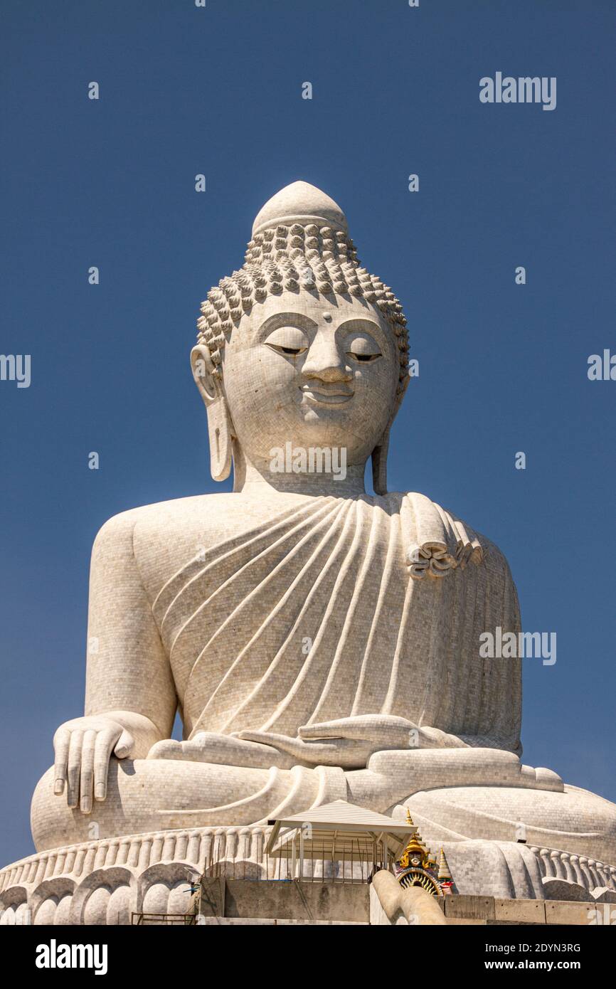
[(257, 215), (245, 261), (208, 293), (191, 353), (208, 411), (211, 469), (234, 490), (271, 480), (274, 450), (343, 450), (387, 492), (389, 434), (408, 381), (406, 320), (360, 266), (346, 219), (295, 182)]

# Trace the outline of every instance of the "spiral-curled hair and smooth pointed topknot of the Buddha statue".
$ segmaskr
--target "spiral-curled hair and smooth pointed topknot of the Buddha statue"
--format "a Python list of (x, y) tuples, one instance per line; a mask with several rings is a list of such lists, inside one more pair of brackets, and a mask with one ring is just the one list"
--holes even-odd
[(357, 296), (378, 307), (396, 334), (396, 398), (401, 401), (408, 374), (402, 307), (389, 286), (360, 266), (340, 208), (307, 182), (286, 186), (265, 204), (254, 222), (242, 267), (220, 279), (202, 304), (197, 339), (208, 347), (217, 376), (221, 350), (233, 326), (268, 295), (283, 290)]

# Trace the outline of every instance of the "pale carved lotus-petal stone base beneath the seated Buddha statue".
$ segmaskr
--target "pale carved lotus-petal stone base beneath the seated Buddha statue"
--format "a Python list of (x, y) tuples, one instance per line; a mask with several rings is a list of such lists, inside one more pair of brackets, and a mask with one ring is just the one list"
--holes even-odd
[[(269, 830), (152, 832), (31, 855), (0, 871), (0, 924), (131, 924), (132, 913), (187, 913), (190, 879), (198, 874), (227, 882), (290, 878), (285, 859), (264, 855)], [(569, 900), (580, 908), (583, 901), (616, 902), (616, 867), (583, 856), (487, 841), (449, 842), (445, 853), (461, 897)], [(308, 862), (306, 870), (309, 881)], [(325, 883), (331, 878), (326, 875)], [(322, 888), (322, 867), (314, 870), (314, 879)], [(354, 879), (361, 885), (357, 864)]]

